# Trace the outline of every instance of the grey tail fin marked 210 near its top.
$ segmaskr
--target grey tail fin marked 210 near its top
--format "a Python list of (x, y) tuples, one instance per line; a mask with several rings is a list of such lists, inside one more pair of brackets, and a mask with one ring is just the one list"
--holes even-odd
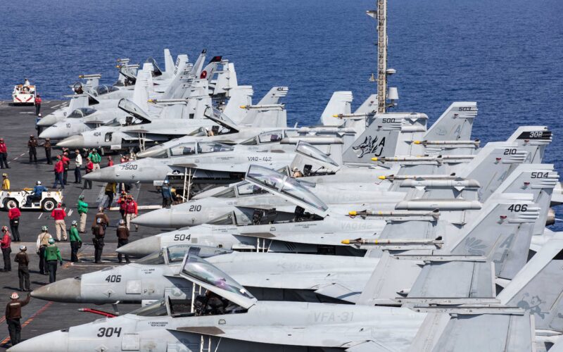
[(472, 161), (460, 165), (456, 175), (481, 184), (479, 201), (488, 199), (517, 166), (526, 161), (528, 152), (516, 144), (493, 142), (476, 154)]

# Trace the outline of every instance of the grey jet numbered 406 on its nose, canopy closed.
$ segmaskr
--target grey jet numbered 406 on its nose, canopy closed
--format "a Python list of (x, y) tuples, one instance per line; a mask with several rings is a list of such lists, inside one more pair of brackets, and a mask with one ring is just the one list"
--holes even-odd
[[(529, 177), (530, 171), (526, 173)], [(526, 180), (524, 175), (522, 176), (520, 180)], [(536, 189), (536, 194), (540, 193), (536, 185), (541, 183), (538, 179), (531, 181), (531, 187)], [(512, 189), (508, 189), (503, 194), (510, 194), (511, 191)], [(548, 191), (544, 193), (549, 195)], [(459, 234), (448, 231), (444, 237), (439, 231), (429, 231), (428, 227), (420, 226), (421, 220), (415, 219), (416, 223), (413, 224), (415, 226), (411, 226), (413, 230), (409, 232), (404, 232), (404, 227), (400, 227), (398, 222), (389, 222), (384, 229), (385, 238), (381, 239), (381, 246), (384, 249), (398, 251), (432, 249), (431, 254), (436, 256), (450, 252), (457, 255), (475, 254), (476, 251), (487, 253), (487, 249), (490, 247), (491, 256), (498, 261), (498, 276), (510, 277), (504, 275), (508, 268), (517, 271), (524, 265), (523, 260), (527, 257), (527, 248), (533, 232), (532, 226), (524, 227), (522, 224), (542, 222), (544, 220), (540, 213), (543, 211), (547, 213), (547, 206), (540, 207), (539, 210), (538, 206), (545, 205), (545, 199), (549, 203), (548, 196), (547, 198), (545, 195), (538, 196), (538, 201), (542, 204), (537, 204), (537, 206), (526, 198), (526, 196), (520, 197), (520, 199), (515, 196), (511, 196), (510, 199), (498, 197), (497, 201), (488, 203), (479, 211), (479, 214), (470, 222), (469, 227), (464, 227)], [(514, 208), (514, 204), (519, 204), (520, 208), (525, 204), (526, 210), (517, 213), (509, 212), (511, 206)], [(507, 213), (511, 218), (499, 222), (499, 217)], [(518, 215), (520, 220), (513, 221), (513, 215)], [(523, 216), (526, 222), (522, 220)], [(408, 218), (403, 219), (403, 221), (405, 220), (413, 221)], [(545, 222), (540, 225), (545, 225)], [(437, 226), (434, 225), (434, 227)], [(340, 234), (339, 239), (352, 234), (346, 230), (335, 232)], [(429, 232), (432, 233), (429, 234)], [(402, 238), (393, 237), (393, 233), (402, 235)], [(495, 240), (495, 236), (500, 239)], [(515, 236), (517, 236), (516, 240)], [(180, 234), (176, 234), (175, 237), (183, 240)], [(186, 234), (183, 234), (183, 237), (185, 239)], [(436, 240), (438, 237), (442, 237), (442, 239)], [(468, 241), (471, 241), (473, 245), (467, 246)], [(528, 246), (524, 245), (526, 241)], [(360, 240), (356, 240), (356, 242), (360, 242)], [(369, 248), (369, 241), (367, 243), (365, 246)], [(437, 249), (439, 251), (436, 251)], [(260, 252), (229, 253), (225, 249), (201, 246), (192, 241), (191, 244), (185, 245), (168, 244), (160, 251), (137, 260), (136, 263), (125, 265), (125, 267), (106, 269), (82, 275), (80, 278), (65, 279), (50, 284), (35, 290), (33, 296), (53, 301), (84, 303), (115, 303), (117, 301), (124, 303), (162, 298), (167, 294), (176, 298), (189, 296), (191, 286), (183, 286), (182, 280), (178, 280), (175, 276), (179, 272), (181, 257), (188, 251), (205, 258), (211, 256), (208, 258), (211, 264), (227, 272), (259, 298), (283, 296), (286, 297), (285, 299), (293, 297), (293, 299), (301, 298), (312, 301), (324, 299), (326, 301), (327, 297), (334, 297), (336, 300), (355, 302), (379, 263), (379, 256), (375, 256), (374, 253), (365, 257)], [(508, 251), (521, 253), (518, 256), (510, 256), (509, 259), (509, 256), (505, 255)], [(261, 263), (261, 265), (256, 265), (257, 263)], [(401, 289), (405, 287), (401, 287)]]

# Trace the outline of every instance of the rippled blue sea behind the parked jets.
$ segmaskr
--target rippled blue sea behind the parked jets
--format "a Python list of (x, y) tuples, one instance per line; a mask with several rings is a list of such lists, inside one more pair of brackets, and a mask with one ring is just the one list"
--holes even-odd
[[(336, 90), (354, 106), (375, 92), (375, 1), (34, 0), (0, 13), (0, 99), (29, 78), (47, 99), (70, 93), (85, 73), (117, 77), (115, 59), (201, 49), (235, 64), (255, 101), (289, 86), (289, 123), (317, 122)], [(474, 137), (502, 140), (519, 125), (548, 125), (545, 162), (562, 171), (563, 1), (389, 0), (390, 80), (400, 111), (434, 121), (453, 101), (477, 101)], [(559, 213), (561, 217), (561, 213)]]

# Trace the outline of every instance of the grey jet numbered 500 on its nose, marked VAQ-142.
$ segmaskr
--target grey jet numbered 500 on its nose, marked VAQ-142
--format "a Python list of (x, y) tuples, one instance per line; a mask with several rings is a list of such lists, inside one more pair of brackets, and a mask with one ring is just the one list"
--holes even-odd
[[(448, 111), (451, 112), (452, 109), (453, 108), (450, 107)], [(385, 148), (385, 155), (395, 155), (396, 151), (403, 151), (403, 149), (405, 149), (403, 146), (403, 144), (406, 144), (405, 141), (414, 139), (415, 137), (424, 137), (424, 133), (422, 132), (426, 131), (426, 118), (423, 118), (424, 116), (422, 116), (424, 114), (415, 114), (415, 116), (410, 113), (400, 113), (393, 115), (396, 116), (396, 118), (379, 118), (381, 119), (381, 124), (390, 126), (396, 125), (397, 128), (391, 130), (380, 128), (381, 126), (379, 126), (379, 118), (377, 118), (376, 120), (374, 120), (374, 122), (371, 123), (371, 125), (369, 125), (369, 127), (365, 131), (365, 133), (367, 133), (368, 131), (374, 130), (374, 132), (376, 133), (385, 134), (385, 136), (381, 137), (383, 140), (388, 139), (389, 141), (389, 144), (387, 144)], [(455, 114), (447, 113), (443, 115), (443, 117), (438, 120), (438, 122), (436, 122), (437, 126), (452, 125), (450, 120), (453, 120), (453, 115)], [(467, 116), (467, 118), (458, 117), (453, 123), (458, 126), (466, 125), (466, 122), (464, 121), (471, 120), (472, 118), (470, 116), (472, 116), (472, 114), (468, 114)], [(405, 125), (405, 128), (401, 127), (403, 125)], [(334, 129), (334, 127), (331, 128)], [(468, 130), (468, 127), (466, 127), (464, 130)], [(117, 168), (105, 168), (104, 170), (91, 172), (87, 177), (89, 178), (89, 180), (94, 181), (152, 183), (154, 181), (164, 180), (168, 175), (182, 176), (189, 174), (191, 182), (194, 182), (196, 184), (213, 184), (214, 180), (220, 180), (222, 183), (229, 183), (240, 180), (241, 176), (244, 174), (244, 172), (246, 172), (246, 168), (248, 168), (248, 165), (250, 165), (251, 163), (269, 165), (270, 168), (281, 168), (285, 165), (288, 165), (289, 162), (287, 161), (285, 163), (281, 163), (281, 159), (286, 160), (287, 158), (293, 158), (294, 150), (293, 148), (285, 150), (281, 149), (284, 145), (284, 142), (291, 145), (292, 143), (297, 143), (301, 139), (306, 139), (307, 142), (311, 143), (329, 143), (329, 146), (327, 148), (336, 148), (338, 144), (343, 143), (344, 149), (346, 149), (346, 139), (341, 139), (339, 137), (329, 137), (329, 135), (327, 134), (308, 137), (308, 135), (306, 135), (306, 133), (308, 133), (307, 129), (300, 129), (298, 132), (303, 132), (305, 133), (305, 135), (295, 137), (295, 139), (293, 139), (293, 137), (288, 137), (285, 141), (284, 139), (279, 138), (281, 136), (278, 135), (277, 138), (281, 139), (281, 145), (279, 147), (274, 147), (275, 149), (264, 149), (260, 148), (260, 146), (246, 146), (239, 144), (236, 152), (232, 153), (232, 156), (229, 156), (226, 153), (217, 153), (217, 155), (208, 154), (207, 156), (205, 156), (205, 158), (189, 155), (177, 156), (176, 158), (170, 158), (170, 160), (146, 158), (140, 161), (132, 161), (124, 165), (118, 165)], [(336, 133), (338, 134), (339, 132)], [(449, 137), (449, 135), (446, 135), (445, 137)], [(391, 139), (393, 139), (393, 142), (391, 142)], [(186, 153), (187, 151), (193, 150), (191, 148), (188, 148), (187, 146), (185, 148), (183, 146), (179, 147), (182, 150), (186, 150)], [(354, 146), (350, 145), (348, 149), (344, 151), (343, 157), (346, 158), (350, 150), (353, 148)], [(248, 149), (246, 155), (241, 153), (243, 149)], [(412, 150), (412, 148), (410, 147), (408, 149)], [(168, 155), (170, 155), (170, 153), (167, 152), (167, 156)], [(377, 155), (383, 154), (378, 152)], [(362, 158), (360, 159), (358, 158), (360, 157), (357, 156), (356, 153), (354, 153), (353, 160), (355, 163), (358, 163), (358, 160), (364, 158), (364, 156), (362, 156)], [(369, 160), (369, 163), (372, 163), (372, 161), (370, 160), (371, 158), (368, 159), (367, 156), (365, 156), (365, 158)], [(275, 163), (275, 160), (280, 160), (280, 163)], [(217, 183), (215, 183), (215, 185), (216, 184)]]

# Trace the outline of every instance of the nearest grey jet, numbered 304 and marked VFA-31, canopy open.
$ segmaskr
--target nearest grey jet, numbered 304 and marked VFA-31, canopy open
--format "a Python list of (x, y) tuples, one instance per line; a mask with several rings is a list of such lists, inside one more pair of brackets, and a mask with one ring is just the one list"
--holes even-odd
[[(511, 214), (510, 218), (523, 218), (525, 222), (530, 222), (530, 218), (521, 215)], [(511, 221), (497, 226), (519, 227)], [(488, 237), (494, 237), (486, 239), (486, 250), (491, 251), (490, 244), (498, 243), (501, 235), (497, 233)], [(460, 246), (460, 253), (467, 253), (467, 246)], [(498, 329), (505, 340), (494, 340), (494, 351), (504, 351), (507, 346), (517, 346), (517, 351), (522, 348), (523, 351), (531, 351), (533, 325), (529, 324), (529, 320), (527, 325), (519, 325), (512, 319), (513, 316), (529, 319), (529, 313), (494, 304), (490, 256), (458, 256), (453, 253), (450, 258), (443, 257), (415, 258), (417, 261), (420, 258), (426, 260), (426, 263), (421, 263), (424, 268), (417, 275), (407, 298), (401, 292), (396, 294), (396, 306), (390, 307), (378, 306), (377, 302), (374, 304), (367, 291), (355, 305), (260, 301), (226, 272), (207, 260), (188, 254), (177, 276), (193, 282), (193, 299), (174, 300), (167, 296), (122, 317), (100, 319), (24, 341), (12, 351), (34, 348), (45, 339), (56, 341), (50, 347), (64, 351), (90, 348), (141, 350), (149, 345), (153, 350), (162, 351), (172, 346), (185, 351), (201, 351), (202, 348), (215, 351), (263, 351), (265, 348), (269, 351), (303, 351), (303, 347), (360, 352), (374, 351), (375, 347), (385, 348), (382, 351), (409, 351), (413, 346), (425, 346), (424, 341), (431, 345), (430, 351), (441, 351), (443, 347), (455, 343), (455, 340), (449, 340), (453, 337), (451, 334), (457, 337), (459, 329), (462, 329), (450, 324), (457, 325), (458, 320), (460, 324), (468, 324), (469, 318), (475, 318), (474, 315), (480, 313), (494, 313), (498, 316), (496, 322), (503, 322)], [(447, 279), (439, 279), (444, 278), (443, 268), (446, 266), (450, 269), (446, 272)], [(375, 274), (367, 282), (367, 288), (377, 286), (380, 277)], [(396, 273), (393, 272), (393, 275)], [(205, 294), (195, 294), (199, 292), (195, 287), (201, 287)], [(403, 302), (410, 304), (410, 308), (400, 306)], [(452, 308), (452, 302), (455, 308)], [(483, 306), (488, 309), (481, 311)], [(450, 312), (461, 313), (463, 318), (457, 316), (452, 319)], [(469, 313), (472, 315), (466, 317), (465, 314)], [(503, 319), (500, 320), (500, 317)], [(440, 324), (431, 325), (431, 321)], [(487, 330), (491, 329), (492, 323), (494, 321), (484, 324), (478, 319), (469, 324), (472, 331), (481, 327), (488, 338), (491, 332)], [(519, 329), (516, 329), (517, 326)], [(526, 332), (523, 336), (527, 339), (513, 336), (516, 330), (520, 334)], [(490, 350), (491, 340), (478, 339), (471, 346), (487, 346)]]

